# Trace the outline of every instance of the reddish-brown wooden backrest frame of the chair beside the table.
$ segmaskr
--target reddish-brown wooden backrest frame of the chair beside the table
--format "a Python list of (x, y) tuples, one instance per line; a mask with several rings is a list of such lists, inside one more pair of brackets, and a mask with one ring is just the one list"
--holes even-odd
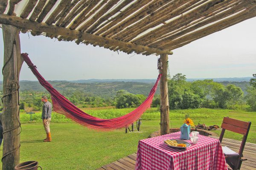
[(250, 130), (250, 125), (251, 125), (251, 122), (244, 122), (241, 120), (224, 117), (223, 122), (221, 124), (222, 131), (221, 131), (221, 135), (219, 138), (220, 142), (222, 142), (225, 130), (230, 130), (232, 132), (239, 133), (239, 134), (243, 135), (244, 137), (241, 142), (240, 149), (239, 149), (239, 156), (241, 158), (243, 150), (244, 150), (244, 145), (245, 145), (245, 142), (246, 142), (249, 130)]

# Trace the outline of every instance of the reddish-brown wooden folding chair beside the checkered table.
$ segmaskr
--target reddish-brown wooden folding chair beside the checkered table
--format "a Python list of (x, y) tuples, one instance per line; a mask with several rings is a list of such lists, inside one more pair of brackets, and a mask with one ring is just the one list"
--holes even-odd
[[(235, 153), (233, 150), (228, 147), (222, 147), (225, 155), (225, 159), (227, 164), (232, 168), (232, 170), (240, 170), (242, 161), (247, 159), (241, 159), (243, 157), (244, 145), (250, 130), (251, 122), (244, 122), (236, 119), (231, 119), (229, 117), (224, 117), (223, 122), (221, 124), (221, 135), (220, 142), (222, 142), (225, 130), (230, 130), (235, 133), (239, 133), (243, 135), (243, 140), (241, 142), (241, 146), (239, 149), (239, 153)], [(226, 153), (225, 153), (226, 152)]]

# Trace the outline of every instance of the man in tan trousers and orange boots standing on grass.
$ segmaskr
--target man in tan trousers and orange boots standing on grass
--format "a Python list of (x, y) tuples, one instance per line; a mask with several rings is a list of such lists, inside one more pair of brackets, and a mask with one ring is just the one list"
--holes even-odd
[(50, 132), (50, 122), (52, 117), (52, 104), (48, 102), (47, 96), (42, 96), (41, 101), (44, 102), (42, 108), (42, 119), (44, 124), (44, 130), (47, 136), (46, 139), (44, 139), (44, 142), (51, 142), (52, 136)]

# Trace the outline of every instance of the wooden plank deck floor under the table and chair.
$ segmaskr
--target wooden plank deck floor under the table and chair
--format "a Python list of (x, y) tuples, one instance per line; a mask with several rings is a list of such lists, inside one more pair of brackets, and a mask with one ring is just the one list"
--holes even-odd
[[(218, 136), (210, 136), (217, 138)], [(223, 138), (222, 146), (230, 147), (230, 149), (238, 152), (241, 142), (233, 139)], [(256, 144), (246, 143), (243, 152), (243, 159), (248, 159), (243, 161), (241, 170), (256, 170)], [(126, 156), (122, 159), (114, 161), (110, 164), (103, 165), (97, 170), (134, 170), (136, 163), (136, 153)]]

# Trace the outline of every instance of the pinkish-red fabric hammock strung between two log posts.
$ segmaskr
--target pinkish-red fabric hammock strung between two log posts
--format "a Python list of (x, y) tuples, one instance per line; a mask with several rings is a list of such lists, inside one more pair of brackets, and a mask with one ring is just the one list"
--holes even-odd
[(57, 90), (55, 90), (55, 88), (53, 88), (52, 85), (50, 85), (49, 82), (47, 82), (41, 76), (41, 74), (39, 74), (39, 72), (36, 69), (36, 66), (29, 59), (28, 54), (22, 53), (21, 56), (23, 57), (24, 61), (27, 63), (33, 74), (35, 74), (35, 77), (38, 79), (40, 84), (44, 88), (46, 88), (46, 90), (51, 94), (53, 111), (55, 111), (56, 113), (63, 114), (81, 125), (97, 130), (113, 130), (122, 127), (128, 127), (137, 119), (139, 119), (140, 116), (146, 111), (146, 109), (150, 108), (154, 94), (157, 90), (157, 84), (161, 77), (161, 74), (159, 74), (155, 85), (153, 86), (148, 95), (148, 98), (145, 99), (145, 101), (134, 111), (124, 116), (120, 116), (113, 119), (99, 119), (97, 117), (91, 116), (81, 111), (79, 108), (73, 105), (68, 99), (62, 96)]

